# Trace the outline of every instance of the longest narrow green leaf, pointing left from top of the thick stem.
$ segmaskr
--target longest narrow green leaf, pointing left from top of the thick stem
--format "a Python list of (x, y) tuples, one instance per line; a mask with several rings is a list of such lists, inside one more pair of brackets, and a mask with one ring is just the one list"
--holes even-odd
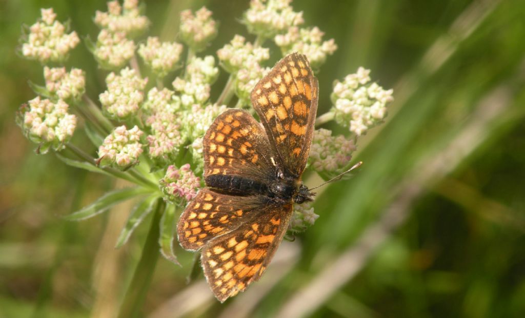
[(111, 191), (104, 194), (102, 197), (100, 197), (97, 201), (91, 203), (89, 206), (82, 208), (72, 214), (69, 214), (69, 216), (65, 216), (64, 218), (69, 221), (89, 219), (96, 216), (97, 214), (106, 211), (107, 209), (111, 208), (117, 203), (133, 199), (137, 196), (148, 193), (151, 193), (151, 190), (142, 187), (125, 188)]

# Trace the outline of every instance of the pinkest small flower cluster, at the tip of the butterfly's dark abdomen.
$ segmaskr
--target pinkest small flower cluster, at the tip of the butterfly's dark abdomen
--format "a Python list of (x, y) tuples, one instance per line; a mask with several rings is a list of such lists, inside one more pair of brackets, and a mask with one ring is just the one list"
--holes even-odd
[(161, 191), (164, 198), (183, 206), (197, 195), (201, 187), (201, 179), (196, 177), (188, 163), (180, 169), (175, 166), (167, 167), (166, 175), (160, 180)]

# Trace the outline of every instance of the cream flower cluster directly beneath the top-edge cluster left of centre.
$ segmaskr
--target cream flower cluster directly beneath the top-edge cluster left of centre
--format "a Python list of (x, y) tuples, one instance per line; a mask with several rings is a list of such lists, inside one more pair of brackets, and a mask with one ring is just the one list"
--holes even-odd
[(135, 43), (124, 32), (112, 33), (102, 29), (92, 53), (102, 68), (118, 69), (128, 63), (134, 52)]

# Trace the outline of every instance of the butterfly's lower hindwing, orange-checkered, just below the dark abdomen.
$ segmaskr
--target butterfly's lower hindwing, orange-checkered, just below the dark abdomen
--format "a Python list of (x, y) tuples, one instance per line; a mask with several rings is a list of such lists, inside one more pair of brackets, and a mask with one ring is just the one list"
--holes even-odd
[(178, 242), (186, 250), (201, 249), (209, 240), (253, 220), (267, 200), (256, 196), (228, 196), (203, 188), (181, 214), (177, 224)]

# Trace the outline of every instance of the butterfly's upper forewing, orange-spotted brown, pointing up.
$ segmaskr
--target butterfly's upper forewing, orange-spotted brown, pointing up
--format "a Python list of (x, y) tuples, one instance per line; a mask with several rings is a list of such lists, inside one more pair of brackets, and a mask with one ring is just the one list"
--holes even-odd
[(310, 152), (318, 92), (308, 59), (299, 53), (281, 59), (251, 92), (270, 145), (297, 179)]

